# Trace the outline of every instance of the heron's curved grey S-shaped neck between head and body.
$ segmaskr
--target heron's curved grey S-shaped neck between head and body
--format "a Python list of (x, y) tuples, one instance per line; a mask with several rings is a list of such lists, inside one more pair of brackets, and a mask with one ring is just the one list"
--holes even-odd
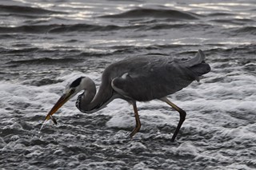
[[(88, 77), (87, 77), (88, 78)], [(79, 109), (84, 113), (94, 113), (100, 109), (103, 109), (110, 101), (112, 97), (112, 88), (110, 83), (102, 81), (102, 85), (96, 93), (96, 85), (90, 78), (86, 80), (85, 91), (82, 93)], [(109, 86), (110, 85), (110, 86)]]

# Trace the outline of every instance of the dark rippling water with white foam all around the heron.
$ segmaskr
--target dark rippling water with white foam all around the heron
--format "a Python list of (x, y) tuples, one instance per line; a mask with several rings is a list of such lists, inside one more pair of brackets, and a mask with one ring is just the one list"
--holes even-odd
[[(255, 169), (256, 2), (2, 0), (0, 4), (0, 168)], [(161, 101), (138, 103), (141, 132), (126, 101), (97, 113), (76, 98), (38, 133), (67, 82), (96, 85), (125, 57), (206, 53), (212, 71)]]

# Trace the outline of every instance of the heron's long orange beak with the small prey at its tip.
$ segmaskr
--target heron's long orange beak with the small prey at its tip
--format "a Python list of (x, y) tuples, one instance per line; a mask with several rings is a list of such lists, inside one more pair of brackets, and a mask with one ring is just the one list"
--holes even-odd
[(57, 122), (51, 117), (54, 113), (56, 113), (58, 111), (58, 109), (60, 107), (62, 107), (62, 105), (64, 105), (66, 103), (66, 101), (68, 101), (70, 99), (70, 96), (73, 93), (66, 93), (63, 94), (62, 97), (60, 97), (58, 99), (58, 101), (56, 102), (56, 104), (54, 105), (54, 107), (52, 109), (50, 109), (50, 112), (47, 114), (45, 121), (52, 119), (52, 121), (54, 121), (54, 124), (57, 124)]

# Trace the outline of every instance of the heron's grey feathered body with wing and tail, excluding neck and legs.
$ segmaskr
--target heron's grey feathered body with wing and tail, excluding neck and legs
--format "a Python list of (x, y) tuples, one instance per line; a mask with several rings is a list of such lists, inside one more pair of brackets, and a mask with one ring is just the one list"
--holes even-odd
[(175, 93), (210, 71), (201, 50), (187, 61), (171, 57), (133, 57), (110, 65), (104, 74), (122, 96), (135, 101), (150, 101)]

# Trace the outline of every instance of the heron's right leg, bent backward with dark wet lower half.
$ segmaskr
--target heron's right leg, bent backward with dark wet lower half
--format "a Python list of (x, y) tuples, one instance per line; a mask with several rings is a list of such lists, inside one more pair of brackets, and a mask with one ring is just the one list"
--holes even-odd
[(170, 105), (173, 109), (177, 110), (179, 113), (178, 125), (175, 129), (174, 135), (171, 138), (171, 141), (174, 141), (178, 134), (179, 129), (182, 127), (183, 121), (185, 121), (185, 119), (186, 119), (186, 112), (184, 110), (180, 109), (177, 105), (174, 105), (174, 103), (169, 101), (166, 97), (162, 97), (160, 100), (165, 101), (168, 105)]

